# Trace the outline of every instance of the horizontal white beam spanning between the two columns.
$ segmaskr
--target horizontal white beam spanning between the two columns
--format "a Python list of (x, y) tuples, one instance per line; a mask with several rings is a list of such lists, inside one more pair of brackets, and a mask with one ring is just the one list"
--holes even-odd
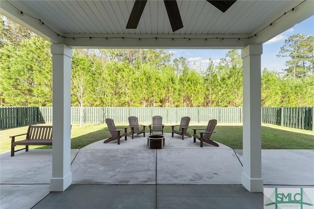
[(66, 38), (64, 44), (73, 48), (241, 49), (249, 44), (248, 35), (66, 34), (66, 37), (71, 38)]

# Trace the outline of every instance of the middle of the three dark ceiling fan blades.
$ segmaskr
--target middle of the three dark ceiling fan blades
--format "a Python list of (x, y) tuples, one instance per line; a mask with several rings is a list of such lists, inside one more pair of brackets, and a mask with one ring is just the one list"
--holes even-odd
[(175, 32), (183, 28), (179, 7), (176, 0), (163, 0), (168, 13), (172, 31)]

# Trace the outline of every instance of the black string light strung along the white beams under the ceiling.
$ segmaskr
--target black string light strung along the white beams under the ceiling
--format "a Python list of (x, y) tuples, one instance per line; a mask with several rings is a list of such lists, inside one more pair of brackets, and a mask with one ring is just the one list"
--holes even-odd
[[(302, 2), (300, 2), (298, 5), (296, 5), (295, 7), (293, 7), (292, 9), (290, 9), (288, 12), (293, 12), (294, 9), (298, 6), (300, 6), (302, 3), (304, 3), (306, 0), (303, 0)], [(19, 10), (16, 6), (14, 6), (11, 2), (7, 1), (9, 4), (11, 4), (15, 9)], [(98, 39), (138, 39), (138, 38), (131, 38), (131, 37), (92, 37), (92, 36), (89, 36), (89, 37), (66, 37), (66, 36), (62, 36), (60, 35), (59, 33), (57, 33), (56, 31), (54, 31), (51, 27), (49, 27), (47, 24), (45, 24), (43, 21), (41, 21), (41, 19), (38, 19), (38, 18), (35, 18), (29, 14), (26, 14), (24, 13), (23, 11), (19, 10), (21, 15), (24, 17), (25, 15), (30, 17), (30, 18), (33, 18), (37, 21), (39, 21), (40, 23), (42, 23), (42, 25), (46, 26), (48, 29), (50, 29), (53, 33), (55, 33), (58, 37), (62, 37), (64, 39), (86, 39), (86, 38), (89, 38), (89, 39), (92, 39), (92, 38), (98, 38)], [(273, 21), (272, 23), (266, 25), (264, 28), (262, 28), (259, 32), (257, 32), (256, 34), (252, 35), (252, 36), (249, 36), (247, 37), (248, 39), (251, 39), (253, 37), (256, 37), (260, 32), (262, 32), (263, 30), (265, 30), (267, 27), (269, 26), (272, 26), (275, 22), (277, 22), (279, 19), (281, 19), (283, 16), (287, 15), (288, 12), (285, 12), (283, 15), (281, 15), (279, 18), (277, 18), (275, 21)], [(141, 39), (154, 39), (154, 38), (139, 38), (139, 41)], [(157, 40), (157, 37), (155, 37), (155, 39)], [(172, 39), (174, 41), (174, 39), (185, 39), (184, 38), (165, 38), (165, 37), (158, 37), (158, 39)], [(201, 40), (204, 38), (188, 38), (188, 40)], [(238, 39), (240, 41), (241, 38), (205, 38), (205, 41), (207, 41), (208, 39), (221, 39), (221, 40), (224, 40), (224, 39)]]

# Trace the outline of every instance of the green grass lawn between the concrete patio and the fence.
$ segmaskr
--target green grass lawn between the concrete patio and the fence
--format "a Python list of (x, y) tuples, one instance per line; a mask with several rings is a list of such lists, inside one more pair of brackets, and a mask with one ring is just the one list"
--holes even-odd
[[(50, 124), (51, 125), (51, 124)], [(116, 124), (117, 127), (127, 126), (127, 124)], [(193, 134), (191, 128), (206, 128), (206, 125), (190, 124), (188, 133)], [(242, 149), (242, 125), (239, 124), (218, 124), (211, 135), (211, 139), (223, 143), (233, 149)], [(0, 153), (10, 150), (10, 136), (24, 134), (27, 126), (4, 129), (0, 131)], [(146, 127), (146, 132), (149, 128)], [(164, 127), (165, 133), (171, 133), (171, 127)], [(98, 140), (106, 139), (110, 136), (106, 124), (83, 124), (80, 128), (78, 124), (72, 125), (71, 148), (79, 149)], [(25, 136), (17, 138), (23, 139)], [(184, 140), (193, 140), (184, 139)], [(24, 146), (25, 147), (25, 146)], [(19, 147), (16, 146), (16, 149)], [(23, 146), (21, 146), (23, 148)], [(52, 148), (51, 146), (30, 146), (33, 148)], [(294, 129), (271, 124), (262, 124), (262, 149), (314, 149), (314, 131)]]

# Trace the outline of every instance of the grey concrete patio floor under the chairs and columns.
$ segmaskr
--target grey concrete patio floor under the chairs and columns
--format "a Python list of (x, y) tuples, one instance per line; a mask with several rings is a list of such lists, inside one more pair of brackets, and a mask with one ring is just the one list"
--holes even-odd
[[(0, 154), (0, 208), (263, 208), (262, 193), (241, 186), (242, 150), (171, 134), (164, 149), (148, 149), (142, 136), (71, 150), (64, 192), (50, 192), (52, 150)], [(262, 178), (264, 187), (313, 187), (314, 150), (262, 150)]]

